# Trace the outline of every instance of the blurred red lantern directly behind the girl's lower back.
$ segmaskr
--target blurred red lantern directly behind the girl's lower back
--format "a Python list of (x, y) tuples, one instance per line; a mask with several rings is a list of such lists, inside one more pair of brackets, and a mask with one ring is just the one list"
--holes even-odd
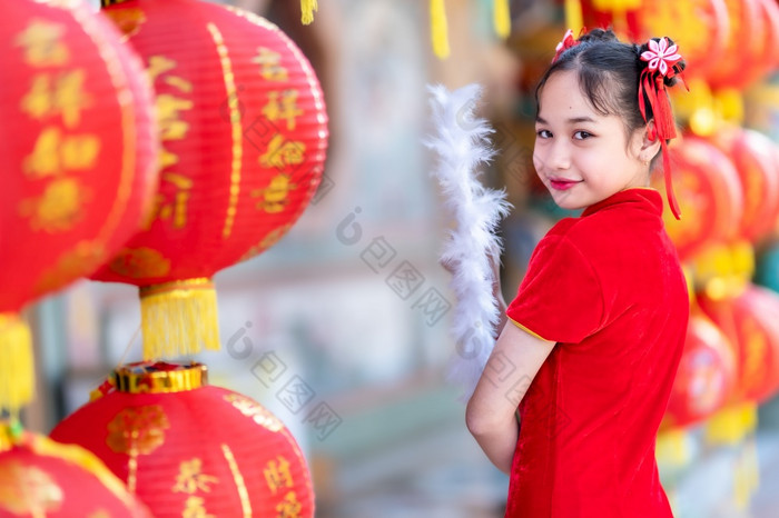
[(734, 386), (732, 346), (693, 306), (663, 427), (684, 427), (706, 419), (728, 402)]

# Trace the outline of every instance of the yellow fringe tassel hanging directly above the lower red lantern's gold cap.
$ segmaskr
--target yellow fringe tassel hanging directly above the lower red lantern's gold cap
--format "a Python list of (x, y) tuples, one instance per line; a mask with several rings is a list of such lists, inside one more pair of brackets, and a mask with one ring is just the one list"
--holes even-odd
[(210, 279), (186, 279), (140, 289), (144, 360), (219, 350), (216, 290)]

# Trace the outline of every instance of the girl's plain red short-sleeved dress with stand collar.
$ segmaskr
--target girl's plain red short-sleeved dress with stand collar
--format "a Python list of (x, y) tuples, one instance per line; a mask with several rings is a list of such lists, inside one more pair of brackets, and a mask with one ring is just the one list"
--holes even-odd
[(506, 517), (672, 516), (654, 444), (689, 299), (662, 206), (621, 191), (535, 248), (506, 313), (558, 343), (520, 404)]

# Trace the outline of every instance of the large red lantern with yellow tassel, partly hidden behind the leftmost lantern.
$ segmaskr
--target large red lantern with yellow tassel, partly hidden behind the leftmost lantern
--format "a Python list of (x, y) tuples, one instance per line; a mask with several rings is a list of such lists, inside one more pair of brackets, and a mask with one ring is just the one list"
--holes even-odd
[(238, 9), (129, 0), (103, 12), (154, 80), (162, 153), (154, 217), (93, 278), (140, 287), (145, 358), (218, 349), (211, 277), (278, 241), (319, 183), (319, 83), (286, 34)]

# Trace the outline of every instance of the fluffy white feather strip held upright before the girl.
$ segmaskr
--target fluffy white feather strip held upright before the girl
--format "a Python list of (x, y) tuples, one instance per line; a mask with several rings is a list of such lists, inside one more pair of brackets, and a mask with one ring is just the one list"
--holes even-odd
[(490, 256), (500, 258), (501, 242), (494, 231), (511, 205), (504, 191), (487, 189), (479, 181), (479, 167), (494, 155), (489, 141), (494, 130), (474, 116), (481, 87), (469, 84), (450, 93), (435, 86), (428, 91), (437, 135), (425, 145), (438, 156), (432, 175), (456, 225), (441, 253), (441, 261), (453, 269), (451, 286), (457, 298), (452, 322), (456, 355), (448, 379), (461, 385), (463, 397), (470, 398), (495, 341), (500, 316)]

